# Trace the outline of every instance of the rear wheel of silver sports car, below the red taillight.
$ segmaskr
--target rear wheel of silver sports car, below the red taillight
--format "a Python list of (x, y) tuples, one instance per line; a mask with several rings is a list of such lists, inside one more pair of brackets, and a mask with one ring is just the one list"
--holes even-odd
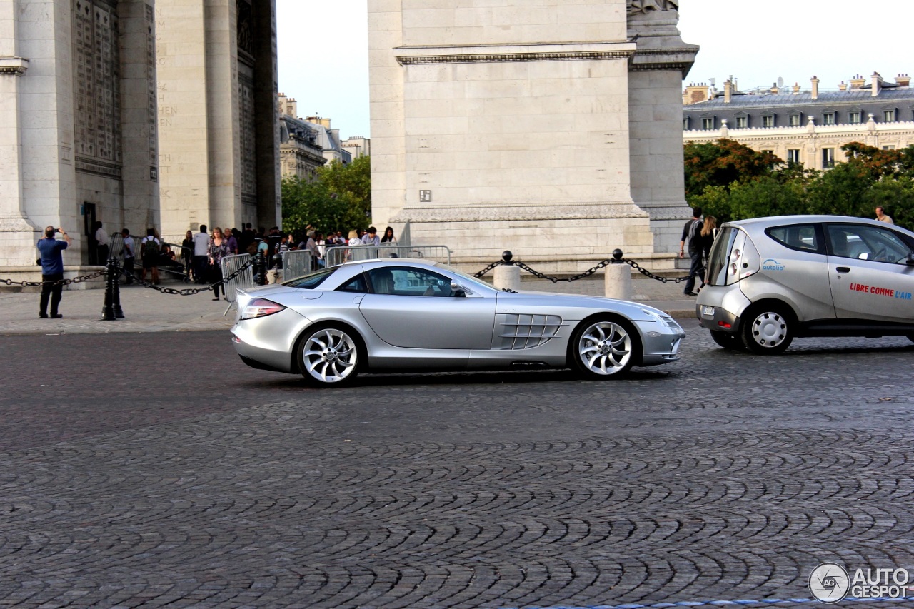
[(314, 326), (298, 343), (298, 369), (313, 385), (341, 387), (358, 375), (361, 343), (345, 326)]

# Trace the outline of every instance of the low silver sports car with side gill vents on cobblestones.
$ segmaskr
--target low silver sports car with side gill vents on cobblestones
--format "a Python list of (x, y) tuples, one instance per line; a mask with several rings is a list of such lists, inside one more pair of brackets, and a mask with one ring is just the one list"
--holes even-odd
[(608, 379), (675, 361), (685, 337), (650, 306), (500, 291), (443, 264), (399, 259), (239, 291), (231, 332), (249, 366), (324, 386), (361, 371), (573, 368)]

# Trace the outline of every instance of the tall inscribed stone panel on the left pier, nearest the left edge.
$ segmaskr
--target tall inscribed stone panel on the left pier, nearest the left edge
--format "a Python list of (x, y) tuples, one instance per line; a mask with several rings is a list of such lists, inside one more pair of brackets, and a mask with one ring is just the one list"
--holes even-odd
[(117, 12), (74, 0), (76, 169), (121, 177), (121, 58)]

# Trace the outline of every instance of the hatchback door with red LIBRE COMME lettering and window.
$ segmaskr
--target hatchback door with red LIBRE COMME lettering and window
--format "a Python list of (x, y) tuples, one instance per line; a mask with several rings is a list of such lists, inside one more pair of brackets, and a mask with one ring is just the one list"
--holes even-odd
[(910, 323), (914, 266), (909, 243), (896, 231), (869, 224), (825, 225), (828, 272), (839, 318)]

